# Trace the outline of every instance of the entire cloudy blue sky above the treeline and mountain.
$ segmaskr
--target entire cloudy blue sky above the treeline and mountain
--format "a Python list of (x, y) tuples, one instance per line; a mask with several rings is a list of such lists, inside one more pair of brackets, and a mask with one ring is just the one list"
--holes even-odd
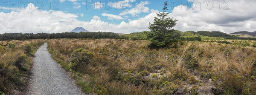
[[(31, 1), (0, 1), (1, 34), (69, 32), (76, 27), (91, 32), (149, 31), (148, 23), (152, 23), (156, 13), (162, 11), (166, 0)], [(253, 0), (168, 0), (168, 3), (168, 17), (179, 20), (174, 29), (180, 31), (256, 31), (256, 1)], [(20, 23), (28, 24), (24, 26)]]

